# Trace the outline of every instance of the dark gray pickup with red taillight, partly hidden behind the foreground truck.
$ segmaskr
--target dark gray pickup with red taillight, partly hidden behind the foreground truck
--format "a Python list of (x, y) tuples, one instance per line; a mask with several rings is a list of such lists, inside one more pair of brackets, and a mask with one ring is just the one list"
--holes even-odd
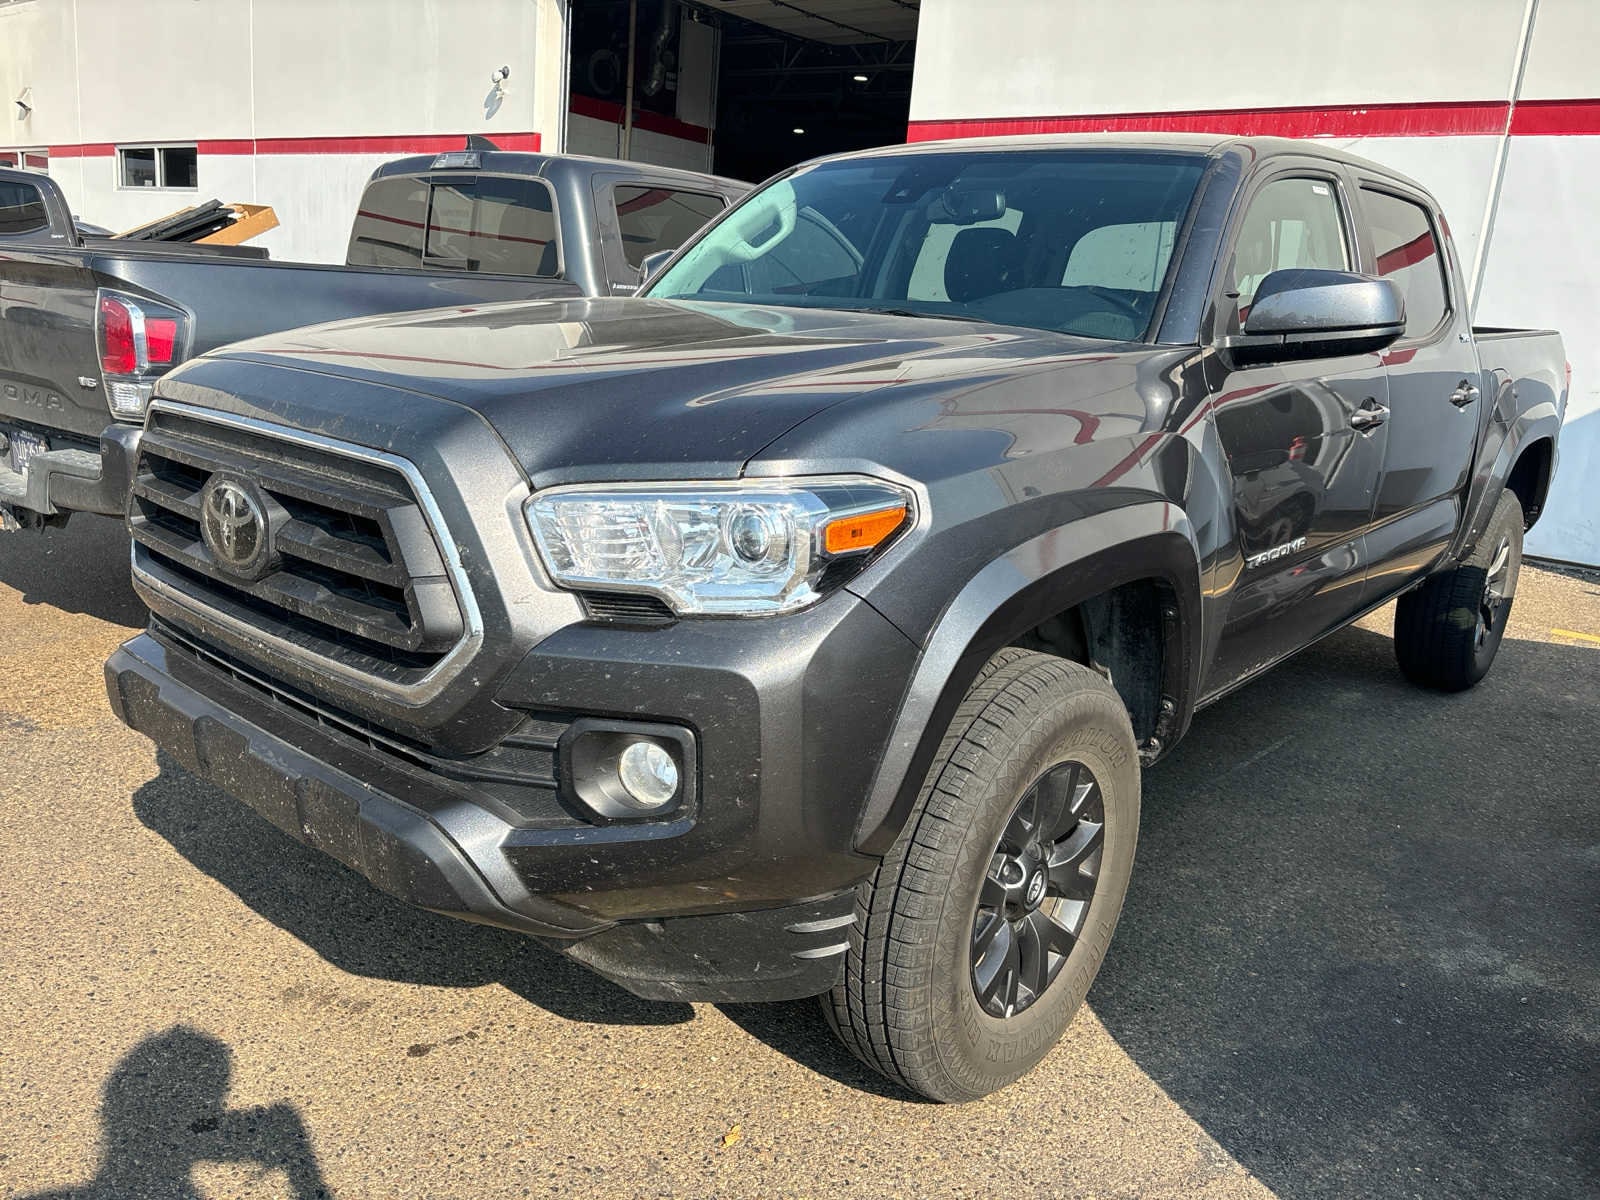
[(243, 338), (378, 312), (629, 294), (749, 190), (648, 163), (461, 150), (366, 184), (344, 266), (82, 237), (56, 184), (0, 168), (0, 528), (120, 515), (150, 387)]

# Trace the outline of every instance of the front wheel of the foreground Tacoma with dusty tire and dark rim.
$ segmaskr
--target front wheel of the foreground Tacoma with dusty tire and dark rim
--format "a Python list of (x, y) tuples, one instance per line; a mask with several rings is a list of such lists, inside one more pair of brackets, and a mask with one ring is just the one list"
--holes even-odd
[(834, 1032), (934, 1101), (1022, 1077), (1099, 971), (1138, 835), (1139, 754), (1115, 688), (1077, 662), (1002, 650), (858, 891), (845, 978), (822, 997)]

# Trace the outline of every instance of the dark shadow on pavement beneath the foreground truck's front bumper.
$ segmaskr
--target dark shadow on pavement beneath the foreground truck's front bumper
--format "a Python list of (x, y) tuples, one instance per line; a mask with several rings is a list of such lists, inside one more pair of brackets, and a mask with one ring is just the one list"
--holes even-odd
[(165, 752), (133, 811), (197, 869), (342, 971), (429, 987), (498, 982), (571, 1021), (662, 1026), (682, 1003), (640, 1000), (507, 930), (414, 909), (301, 845)]

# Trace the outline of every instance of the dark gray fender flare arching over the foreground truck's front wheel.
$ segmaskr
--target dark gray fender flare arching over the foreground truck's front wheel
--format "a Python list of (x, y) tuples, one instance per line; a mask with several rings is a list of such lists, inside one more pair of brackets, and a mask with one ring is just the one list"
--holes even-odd
[(1176, 595), (1165, 622), (1163, 686), (1176, 710), (1163, 741), (1176, 741), (1198, 693), (1200, 555), (1189, 517), (1168, 501), (1142, 501), (1032, 538), (973, 576), (930, 630), (901, 698), (867, 802), (856, 850), (882, 858), (899, 837), (944, 731), (984, 662), (1045, 618), (1138, 579)]

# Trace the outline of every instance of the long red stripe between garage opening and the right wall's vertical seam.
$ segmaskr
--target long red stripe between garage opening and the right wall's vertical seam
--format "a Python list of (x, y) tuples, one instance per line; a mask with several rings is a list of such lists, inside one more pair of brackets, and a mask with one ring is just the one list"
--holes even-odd
[(1366, 104), (1360, 107), (1203, 109), (1197, 112), (1107, 112), (1088, 117), (989, 117), (912, 122), (907, 141), (994, 138), (1034, 133), (1224, 133), (1238, 138), (1446, 138), (1498, 136), (1510, 104)]

